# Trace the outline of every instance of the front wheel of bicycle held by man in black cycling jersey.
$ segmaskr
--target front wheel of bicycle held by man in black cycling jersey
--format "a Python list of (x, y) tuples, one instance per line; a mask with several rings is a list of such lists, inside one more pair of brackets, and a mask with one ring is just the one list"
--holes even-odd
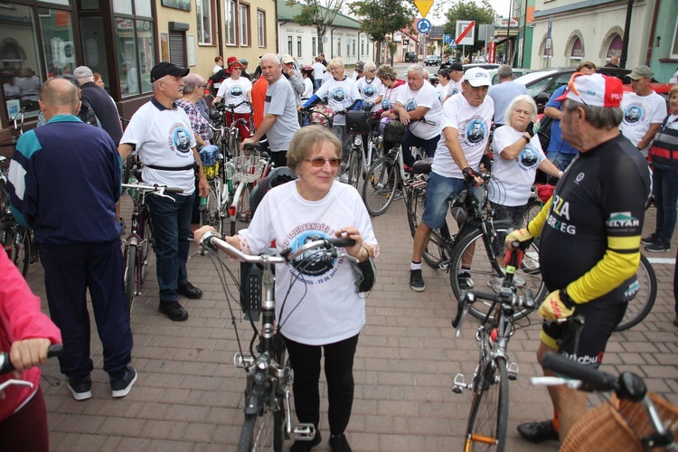
[(504, 358), (496, 358), (485, 365), (483, 372), (476, 377), (473, 391), (465, 450), (488, 450), (495, 446), (497, 452), (503, 452), (509, 408), (508, 372)]

